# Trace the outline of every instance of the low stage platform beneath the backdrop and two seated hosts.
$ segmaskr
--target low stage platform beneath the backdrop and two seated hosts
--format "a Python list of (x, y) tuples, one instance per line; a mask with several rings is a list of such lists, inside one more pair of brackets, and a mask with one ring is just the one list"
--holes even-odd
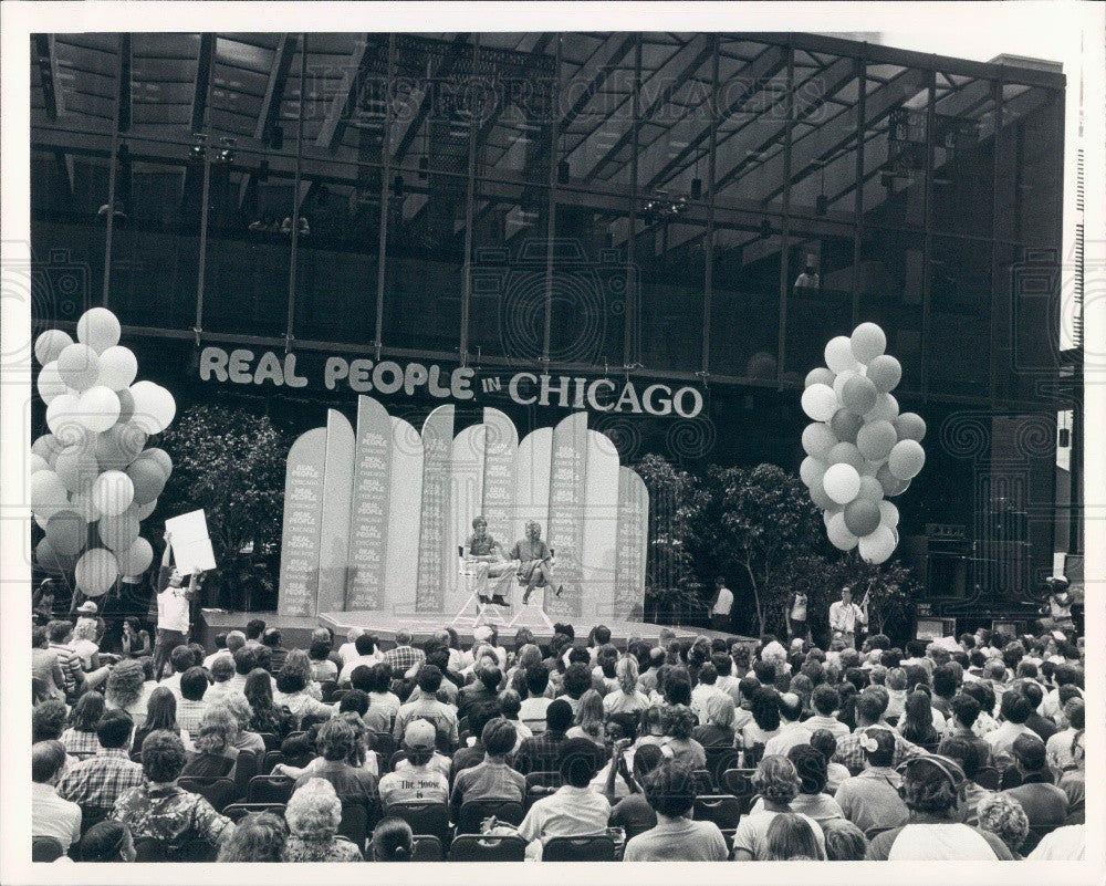
[[(511, 611), (504, 611), (504, 621), (511, 619)], [(474, 609), (473, 609), (474, 614)], [(453, 615), (446, 613), (389, 613), (383, 611), (352, 611), (352, 612), (328, 612), (320, 613), (315, 617), (293, 617), (280, 616), (274, 612), (223, 612), (217, 609), (204, 609), (204, 643), (206, 646), (215, 646), (215, 635), (222, 630), (241, 629), (251, 618), (261, 618), (271, 627), (279, 627), (282, 633), (283, 645), (285, 647), (298, 646), (307, 648), (311, 642), (311, 632), (316, 627), (328, 627), (335, 635), (344, 640), (349, 628), (361, 627), (375, 634), (384, 648), (395, 645), (396, 632), (400, 629), (409, 630), (415, 637), (415, 643), (420, 644), (429, 639), (435, 632), (440, 630), (453, 622)], [(555, 621), (555, 619), (554, 619)], [(573, 623), (576, 632), (576, 643), (583, 645), (587, 640), (587, 635), (598, 622), (577, 619)], [(655, 625), (648, 622), (618, 622), (604, 621), (611, 628), (611, 642), (619, 648), (625, 648), (632, 637), (640, 637), (644, 640), (656, 642), (660, 637), (660, 632), (665, 625)], [(472, 643), (472, 627), (468, 625), (453, 625), (463, 646)], [(743, 637), (735, 634), (721, 634), (700, 627), (686, 627), (679, 625), (668, 626), (679, 638), (693, 638), (706, 636), (714, 637), (737, 637), (740, 643), (755, 645), (752, 637)], [(539, 643), (547, 643), (553, 632), (530, 627)], [(514, 628), (505, 625), (499, 626), (500, 643), (510, 645), (514, 639)]]

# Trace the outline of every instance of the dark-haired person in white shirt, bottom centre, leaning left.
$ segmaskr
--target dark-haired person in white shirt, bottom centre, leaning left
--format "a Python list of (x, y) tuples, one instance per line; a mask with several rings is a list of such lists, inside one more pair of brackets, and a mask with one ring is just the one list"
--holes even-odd
[[(542, 738), (544, 736), (535, 736), (533, 740)], [(540, 857), (541, 846), (550, 837), (592, 836), (606, 832), (611, 803), (591, 788), (595, 762), (594, 742), (568, 739), (561, 744), (561, 786), (534, 803), (519, 825), (519, 834), (531, 844), (528, 847), (530, 857)]]

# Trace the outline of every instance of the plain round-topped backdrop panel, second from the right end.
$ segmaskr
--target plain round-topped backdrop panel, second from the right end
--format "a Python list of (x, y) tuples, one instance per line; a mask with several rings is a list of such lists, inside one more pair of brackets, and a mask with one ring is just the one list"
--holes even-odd
[(605, 434), (588, 430), (586, 459), (581, 604), (585, 616), (612, 618), (618, 543), (618, 450)]

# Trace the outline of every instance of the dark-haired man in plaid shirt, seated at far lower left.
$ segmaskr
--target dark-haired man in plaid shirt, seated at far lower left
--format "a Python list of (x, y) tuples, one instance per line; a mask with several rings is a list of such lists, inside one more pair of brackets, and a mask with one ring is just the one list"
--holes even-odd
[(145, 782), (142, 763), (132, 762), (127, 753), (133, 731), (134, 721), (125, 711), (105, 711), (96, 726), (101, 750), (70, 767), (58, 783), (58, 795), (81, 806), (85, 821), (105, 817), (119, 794)]

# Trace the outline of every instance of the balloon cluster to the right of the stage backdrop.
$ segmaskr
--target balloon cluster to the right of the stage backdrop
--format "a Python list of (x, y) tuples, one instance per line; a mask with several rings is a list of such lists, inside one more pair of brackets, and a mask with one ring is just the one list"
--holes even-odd
[(902, 366), (886, 347), (875, 323), (832, 338), (826, 365), (807, 374), (803, 392), (803, 411), (814, 420), (803, 431), (799, 472), (833, 545), (859, 546), (868, 563), (883, 563), (898, 545), (898, 508), (889, 499), (926, 463), (926, 423), (915, 413), (899, 415), (891, 390)]

